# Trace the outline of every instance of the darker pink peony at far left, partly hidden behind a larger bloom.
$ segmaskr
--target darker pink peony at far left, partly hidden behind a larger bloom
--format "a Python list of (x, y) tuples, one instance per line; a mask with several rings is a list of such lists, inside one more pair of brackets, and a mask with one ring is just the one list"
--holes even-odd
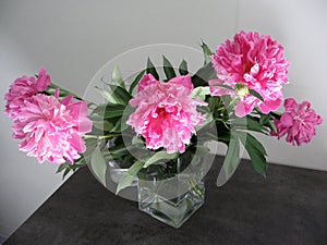
[(35, 94), (46, 90), (50, 84), (50, 76), (47, 74), (46, 69), (39, 70), (37, 78), (34, 76), (16, 78), (10, 86), (9, 91), (4, 95), (4, 99), (7, 100), (7, 114), (15, 120), (24, 101)]

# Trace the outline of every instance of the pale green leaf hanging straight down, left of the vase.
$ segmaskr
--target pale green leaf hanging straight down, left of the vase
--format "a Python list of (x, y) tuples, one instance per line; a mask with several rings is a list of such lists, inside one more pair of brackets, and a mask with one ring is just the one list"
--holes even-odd
[(104, 158), (102, 152), (100, 151), (99, 146), (95, 148), (90, 156), (90, 167), (94, 174), (97, 176), (99, 182), (106, 186), (106, 171), (107, 171), (107, 163)]

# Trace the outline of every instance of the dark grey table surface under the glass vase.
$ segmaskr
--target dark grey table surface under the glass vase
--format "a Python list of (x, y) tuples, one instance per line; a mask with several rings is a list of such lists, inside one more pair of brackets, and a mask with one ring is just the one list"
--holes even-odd
[(222, 187), (222, 158), (206, 177), (206, 203), (179, 230), (114, 196), (87, 168), (77, 171), (5, 245), (327, 244), (327, 173), (243, 160)]

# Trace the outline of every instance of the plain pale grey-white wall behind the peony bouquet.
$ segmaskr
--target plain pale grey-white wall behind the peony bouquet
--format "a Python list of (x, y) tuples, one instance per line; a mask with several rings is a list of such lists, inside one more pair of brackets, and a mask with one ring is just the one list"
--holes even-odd
[[(311, 100), (326, 119), (311, 145), (264, 139), (269, 159), (327, 170), (326, 10), (324, 0), (0, 1), (0, 97), (15, 77), (40, 66), (53, 82), (83, 95), (102, 64), (131, 48), (166, 42), (198, 49), (201, 38), (216, 48), (238, 29), (255, 29), (286, 47), (292, 62), (287, 94)], [(140, 59), (144, 63), (146, 57)], [(0, 233), (9, 235), (61, 184), (61, 176), (53, 164), (38, 164), (20, 152), (10, 120), (3, 114), (0, 120)]]

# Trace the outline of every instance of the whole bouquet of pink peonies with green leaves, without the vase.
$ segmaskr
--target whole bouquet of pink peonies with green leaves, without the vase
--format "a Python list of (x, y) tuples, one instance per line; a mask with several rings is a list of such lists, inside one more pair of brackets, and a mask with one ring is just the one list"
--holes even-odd
[(227, 145), (221, 173), (228, 180), (241, 145), (254, 169), (266, 174), (267, 152), (252, 132), (286, 136), (298, 146), (312, 140), (323, 120), (310, 102), (283, 98), (289, 61), (280, 44), (240, 32), (215, 52), (201, 47), (204, 64), (195, 74), (186, 61), (174, 69), (164, 57), (165, 77), (148, 59), (126, 84), (116, 66), (112, 83), (95, 87), (105, 98), (100, 105), (60, 88), (45, 69), (19, 77), (4, 97), (13, 137), (27, 156), (58, 164), (63, 176), (89, 164), (106, 184), (108, 162), (118, 162), (128, 171), (117, 193), (149, 170), (162, 179), (182, 172), (190, 159), (209, 152), (208, 142)]

